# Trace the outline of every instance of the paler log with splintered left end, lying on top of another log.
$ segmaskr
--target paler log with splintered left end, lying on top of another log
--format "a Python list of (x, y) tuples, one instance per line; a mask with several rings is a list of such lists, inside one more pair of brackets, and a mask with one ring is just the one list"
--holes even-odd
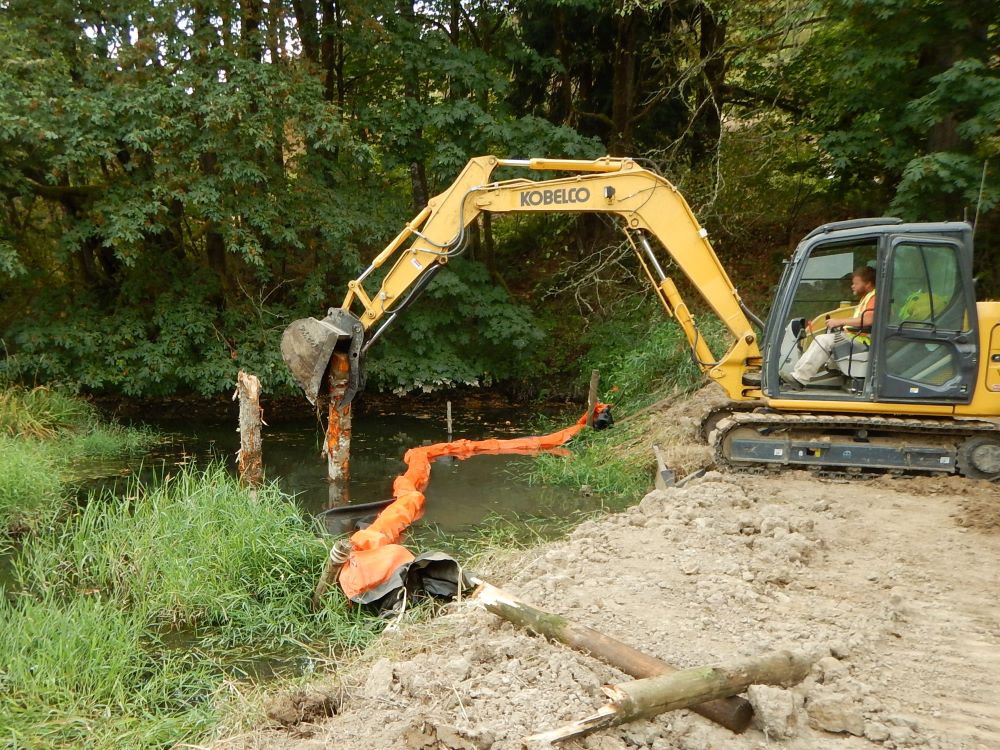
[(750, 685), (788, 687), (801, 682), (811, 668), (812, 660), (805, 655), (778, 651), (756, 658), (734, 659), (715, 666), (693, 667), (635, 682), (607, 685), (604, 692), (611, 702), (596, 713), (557, 729), (526, 737), (525, 743), (552, 743), (581, 737), (600, 729), (736, 695)]

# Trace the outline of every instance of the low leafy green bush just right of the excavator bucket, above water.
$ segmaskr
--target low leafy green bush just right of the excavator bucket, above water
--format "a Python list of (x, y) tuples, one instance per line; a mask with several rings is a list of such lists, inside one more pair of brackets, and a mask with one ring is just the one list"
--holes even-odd
[(481, 263), (452, 260), (372, 352), (369, 382), (424, 391), (490, 385), (532, 366), (542, 333)]

